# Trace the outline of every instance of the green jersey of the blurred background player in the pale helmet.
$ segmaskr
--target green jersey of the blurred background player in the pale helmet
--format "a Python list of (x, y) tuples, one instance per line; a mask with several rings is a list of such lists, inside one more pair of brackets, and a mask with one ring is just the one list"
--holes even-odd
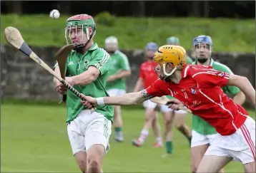
[[(109, 69), (109, 76), (119, 73), (121, 70), (130, 70), (129, 61), (126, 55), (121, 51), (115, 51), (111, 55), (111, 65)], [(119, 78), (112, 82), (107, 82), (106, 89), (126, 89), (125, 78)]]

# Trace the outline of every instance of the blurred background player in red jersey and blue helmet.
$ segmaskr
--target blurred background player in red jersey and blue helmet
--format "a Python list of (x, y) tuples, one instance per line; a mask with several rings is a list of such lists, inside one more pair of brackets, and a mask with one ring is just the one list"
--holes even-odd
[[(157, 43), (147, 43), (145, 55), (147, 60), (142, 63), (140, 66), (139, 79), (134, 88), (134, 92), (138, 92), (142, 88), (149, 87), (155, 80), (158, 79), (157, 73), (154, 71), (154, 61), (153, 56), (157, 51)], [(159, 121), (157, 119), (157, 107), (164, 115), (164, 125), (165, 125), (165, 136), (170, 136), (169, 132), (171, 132), (170, 126), (170, 112), (169, 108), (165, 105), (157, 105), (157, 103), (153, 103), (151, 100), (147, 100), (143, 103), (145, 108), (146, 120), (144, 123), (144, 127), (139, 136), (139, 139), (133, 140), (132, 144), (137, 147), (143, 145), (147, 136), (149, 135), (149, 129), (152, 126), (154, 130), (154, 135), (156, 137), (156, 142), (154, 142), (154, 147), (162, 147), (162, 135), (161, 135), (161, 127), (159, 125)], [(168, 139), (167, 139), (168, 140)]]

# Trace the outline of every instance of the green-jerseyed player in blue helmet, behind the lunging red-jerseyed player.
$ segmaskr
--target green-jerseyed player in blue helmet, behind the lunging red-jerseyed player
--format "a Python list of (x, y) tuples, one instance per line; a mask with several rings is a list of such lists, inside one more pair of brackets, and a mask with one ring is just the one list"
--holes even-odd
[[(222, 63), (218, 63), (211, 58), (212, 38), (210, 36), (197, 36), (193, 39), (193, 51), (195, 51), (195, 65), (211, 65), (215, 70), (233, 74), (230, 68)], [(225, 86), (222, 88), (225, 94), (233, 95), (234, 102), (242, 105), (245, 102), (245, 95), (235, 86)], [(202, 160), (207, 148), (215, 139), (217, 132), (208, 122), (201, 117), (192, 115), (192, 144), (191, 144), (191, 165), (192, 172), (197, 171), (197, 167)], [(223, 172), (223, 170), (220, 170)]]

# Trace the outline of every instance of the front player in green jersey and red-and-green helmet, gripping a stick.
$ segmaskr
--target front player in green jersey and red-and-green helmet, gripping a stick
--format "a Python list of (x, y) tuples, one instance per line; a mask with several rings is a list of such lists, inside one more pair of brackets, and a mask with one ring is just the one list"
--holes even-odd
[[(65, 38), (74, 44), (66, 63), (66, 80), (79, 93), (106, 97), (110, 56), (94, 43), (96, 26), (92, 16), (79, 14), (67, 19)], [(58, 64), (54, 70), (59, 73)], [(109, 150), (114, 108), (88, 109), (74, 93), (54, 78), (56, 91), (67, 93), (67, 132), (72, 152), (82, 172), (102, 172), (102, 159)]]

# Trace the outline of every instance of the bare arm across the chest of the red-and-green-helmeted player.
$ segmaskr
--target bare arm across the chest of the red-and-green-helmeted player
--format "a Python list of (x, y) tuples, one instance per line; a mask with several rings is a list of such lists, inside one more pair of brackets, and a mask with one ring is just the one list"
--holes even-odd
[(70, 85), (87, 85), (94, 82), (98, 78), (99, 74), (99, 69), (92, 65), (83, 73), (67, 78), (67, 82)]

